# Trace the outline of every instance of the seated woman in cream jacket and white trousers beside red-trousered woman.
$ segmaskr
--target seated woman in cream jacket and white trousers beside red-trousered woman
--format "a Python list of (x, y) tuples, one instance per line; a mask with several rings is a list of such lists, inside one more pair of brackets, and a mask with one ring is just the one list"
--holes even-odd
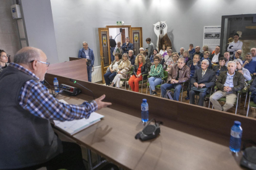
[(116, 86), (120, 87), (120, 80), (126, 78), (127, 72), (130, 70), (132, 65), (130, 64), (130, 61), (128, 59), (128, 54), (124, 53), (122, 54), (122, 61), (117, 67), (116, 70), (116, 76), (114, 77), (112, 84), (110, 86)]

